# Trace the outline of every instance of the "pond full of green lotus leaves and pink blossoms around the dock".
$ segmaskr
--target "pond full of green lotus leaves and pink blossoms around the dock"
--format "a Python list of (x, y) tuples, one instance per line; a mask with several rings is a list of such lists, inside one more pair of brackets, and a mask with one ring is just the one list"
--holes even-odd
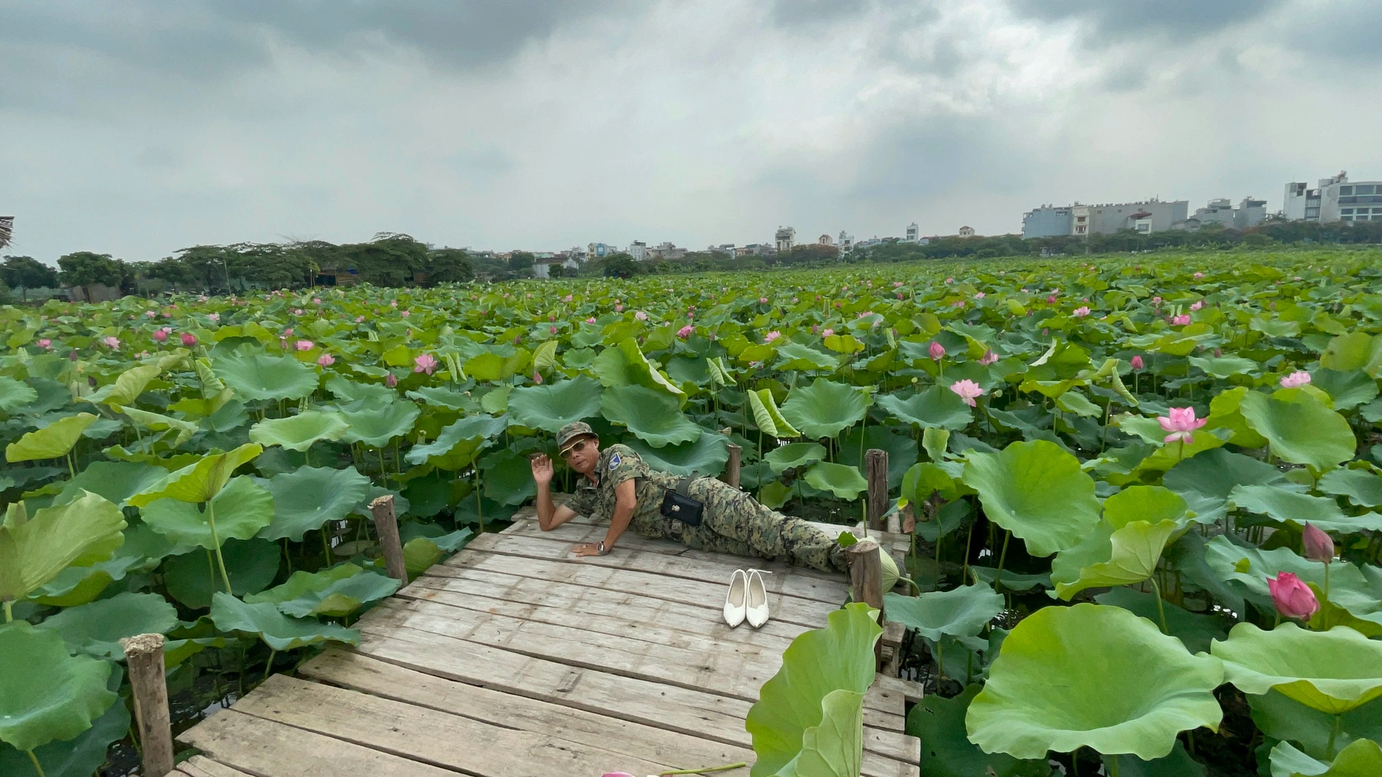
[[(915, 588), (884, 610), (931, 693), (908, 718), (923, 774), (1382, 773), (1378, 252), (0, 321), (0, 665), (30, 668), (0, 672), (6, 776), (133, 766), (122, 637), (166, 635), (180, 726), (357, 642), (398, 585), (369, 500), (395, 496), (419, 574), (531, 499), (528, 455), (572, 420), (676, 473), (737, 444), (746, 489), (839, 523), (887, 451)], [(756, 776), (800, 758), (763, 752)]]

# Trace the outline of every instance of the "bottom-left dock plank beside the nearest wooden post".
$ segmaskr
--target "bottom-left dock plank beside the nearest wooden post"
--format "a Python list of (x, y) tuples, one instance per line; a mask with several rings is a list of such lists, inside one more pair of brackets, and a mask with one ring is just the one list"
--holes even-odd
[(419, 763), (225, 709), (187, 731), (178, 741), (210, 759), (256, 777), (455, 777), (455, 771)]

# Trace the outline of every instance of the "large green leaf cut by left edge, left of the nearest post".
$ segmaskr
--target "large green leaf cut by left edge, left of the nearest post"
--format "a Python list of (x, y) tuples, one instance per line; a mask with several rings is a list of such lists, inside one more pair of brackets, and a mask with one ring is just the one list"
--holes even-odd
[(32, 751), (91, 727), (119, 698), (111, 664), (68, 655), (62, 636), (25, 621), (0, 626), (0, 741)]

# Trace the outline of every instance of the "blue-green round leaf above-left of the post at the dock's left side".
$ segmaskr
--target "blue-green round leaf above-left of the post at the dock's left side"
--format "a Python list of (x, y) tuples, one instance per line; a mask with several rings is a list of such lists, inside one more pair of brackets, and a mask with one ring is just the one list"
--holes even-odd
[(322, 528), (326, 521), (344, 520), (368, 491), (369, 478), (355, 471), (355, 467), (299, 467), (296, 471), (276, 474), (268, 481), (274, 520), (258, 536), (286, 536), (301, 542), (303, 534)]

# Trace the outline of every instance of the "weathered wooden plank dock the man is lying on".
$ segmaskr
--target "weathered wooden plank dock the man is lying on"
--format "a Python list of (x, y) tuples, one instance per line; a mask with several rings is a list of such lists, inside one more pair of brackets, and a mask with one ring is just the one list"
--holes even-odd
[[(753, 763), (749, 706), (792, 637), (844, 601), (844, 577), (632, 534), (575, 559), (571, 546), (604, 527), (543, 532), (531, 516), (366, 612), (359, 647), (275, 675), (182, 733), (202, 755), (174, 777), (641, 777)], [(726, 585), (748, 565), (773, 572), (773, 619), (730, 629)], [(914, 683), (882, 675), (871, 689), (865, 776), (919, 774), (920, 744), (902, 733), (909, 697)]]

